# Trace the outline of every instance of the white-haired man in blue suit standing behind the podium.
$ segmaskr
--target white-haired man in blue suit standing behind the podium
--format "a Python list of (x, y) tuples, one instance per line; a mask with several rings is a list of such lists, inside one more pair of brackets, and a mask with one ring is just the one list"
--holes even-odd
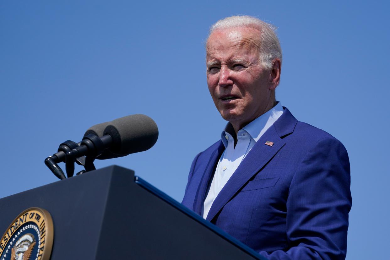
[(273, 28), (250, 16), (218, 21), (206, 62), (229, 123), (195, 157), (183, 204), (268, 259), (344, 259), (347, 151), (275, 101), (282, 51)]

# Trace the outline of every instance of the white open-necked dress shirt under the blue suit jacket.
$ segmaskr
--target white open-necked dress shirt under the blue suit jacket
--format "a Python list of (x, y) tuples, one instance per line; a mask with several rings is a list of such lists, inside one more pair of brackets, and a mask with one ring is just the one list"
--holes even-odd
[(282, 113), (282, 104), (278, 102), (271, 110), (244, 126), (237, 133), (236, 147), (234, 147), (234, 138), (227, 132), (228, 127), (226, 127), (225, 131), (222, 132), (221, 138), (223, 145), (225, 145), (225, 151), (222, 153), (222, 156), (218, 161), (206, 200), (204, 200), (204, 219), (206, 219), (215, 198), (233, 175), (234, 171), (236, 171), (241, 161), (245, 158), (264, 132), (267, 131), (267, 129), (271, 127), (276, 120), (278, 120)]

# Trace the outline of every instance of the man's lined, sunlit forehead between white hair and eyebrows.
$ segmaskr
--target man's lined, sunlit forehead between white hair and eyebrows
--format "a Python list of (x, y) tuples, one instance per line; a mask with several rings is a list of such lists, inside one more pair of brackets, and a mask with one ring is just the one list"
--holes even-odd
[(211, 33), (207, 40), (207, 60), (254, 54), (259, 51), (259, 43), (260, 32), (255, 28), (217, 29)]

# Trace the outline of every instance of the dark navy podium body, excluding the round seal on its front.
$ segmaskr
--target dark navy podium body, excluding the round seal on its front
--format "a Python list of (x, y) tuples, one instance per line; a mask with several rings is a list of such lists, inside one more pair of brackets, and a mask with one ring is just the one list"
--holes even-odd
[(30, 207), (51, 215), (52, 260), (266, 259), (119, 166), (0, 199), (0, 235)]

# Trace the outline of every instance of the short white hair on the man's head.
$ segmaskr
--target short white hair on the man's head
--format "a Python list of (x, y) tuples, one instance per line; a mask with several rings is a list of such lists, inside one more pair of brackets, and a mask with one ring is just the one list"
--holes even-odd
[[(260, 31), (259, 55), (260, 62), (265, 69), (271, 69), (272, 60), (279, 58), (282, 62), (282, 48), (276, 35), (276, 28), (252, 16), (230, 16), (217, 21), (210, 27), (210, 35), (217, 29), (227, 29), (232, 27), (250, 27)], [(208, 38), (207, 38), (208, 39)]]

